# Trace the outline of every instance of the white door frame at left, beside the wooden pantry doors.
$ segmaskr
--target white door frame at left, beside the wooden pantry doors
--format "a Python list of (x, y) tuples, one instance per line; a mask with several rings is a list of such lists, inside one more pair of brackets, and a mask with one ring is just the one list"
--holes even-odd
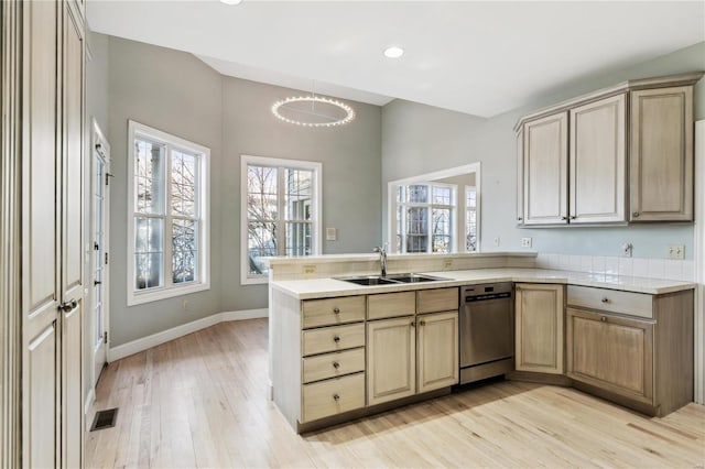
[[(98, 145), (100, 145), (100, 148), (102, 149), (104, 154), (101, 155), (101, 157), (105, 160), (105, 174), (108, 175), (110, 173), (110, 144), (108, 143), (108, 140), (105, 138), (105, 134), (102, 133), (102, 131), (100, 130), (100, 127), (98, 126), (98, 122), (96, 121), (95, 118), (91, 118), (91, 122), (90, 122), (90, 229), (89, 229), (89, 247), (90, 247), (90, 269), (89, 269), (89, 285), (90, 287), (88, 288), (90, 291), (90, 312), (89, 312), (89, 316), (90, 316), (90, 392), (95, 393), (95, 388), (96, 388), (96, 383), (98, 380), (98, 375), (96, 375), (96, 342), (95, 342), (95, 330), (96, 330), (96, 324), (95, 324), (95, 307), (96, 307), (96, 298), (93, 294), (94, 290), (93, 290), (93, 285), (95, 282), (95, 268), (93, 264), (93, 257), (94, 257), (94, 250), (93, 247), (95, 246), (94, 243), (96, 242), (95, 239), (95, 210), (94, 210), (94, 197), (96, 194), (96, 183), (98, 184), (105, 184), (105, 193), (104, 193), (104, 206), (105, 206), (105, 210), (104, 210), (104, 252), (108, 253), (109, 252), (109, 248), (110, 248), (110, 185), (106, 184), (106, 182), (104, 181), (96, 181), (96, 159), (95, 159), (95, 152), (98, 148)], [(107, 176), (106, 176), (107, 177)], [(104, 323), (104, 331), (108, 334), (108, 342), (105, 343), (105, 348), (106, 348), (106, 363), (109, 362), (110, 357), (109, 357), (109, 351), (110, 351), (110, 347), (109, 347), (109, 339), (110, 339), (110, 269), (109, 269), (109, 263), (105, 265), (105, 270), (104, 270), (104, 275), (102, 275), (102, 284), (104, 284), (104, 295), (102, 295), (102, 323)]]

